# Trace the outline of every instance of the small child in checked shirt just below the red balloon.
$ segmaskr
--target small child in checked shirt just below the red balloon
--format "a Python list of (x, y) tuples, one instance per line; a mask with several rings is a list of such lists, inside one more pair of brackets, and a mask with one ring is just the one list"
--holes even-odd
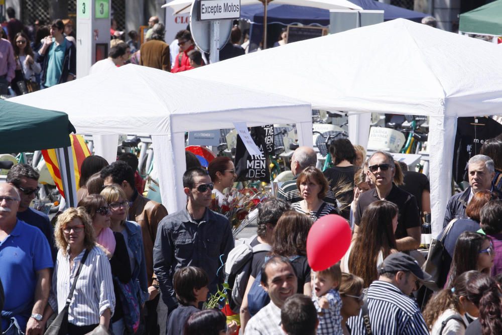
[(342, 334), (338, 287), (342, 272), (340, 262), (323, 271), (311, 271), (312, 301), (319, 317), (317, 334)]

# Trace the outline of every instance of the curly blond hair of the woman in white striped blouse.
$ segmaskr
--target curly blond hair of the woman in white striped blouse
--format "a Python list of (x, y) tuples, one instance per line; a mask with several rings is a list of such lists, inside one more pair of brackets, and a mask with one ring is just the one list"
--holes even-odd
[(66, 255), (68, 249), (68, 241), (66, 241), (64, 237), (63, 229), (70, 221), (76, 218), (80, 219), (80, 221), (82, 221), (82, 225), (84, 226), (84, 248), (90, 250), (96, 245), (94, 229), (92, 228), (92, 219), (85, 211), (85, 208), (70, 207), (58, 216), (56, 227), (54, 228), (56, 246), (58, 249), (61, 249), (63, 255)]

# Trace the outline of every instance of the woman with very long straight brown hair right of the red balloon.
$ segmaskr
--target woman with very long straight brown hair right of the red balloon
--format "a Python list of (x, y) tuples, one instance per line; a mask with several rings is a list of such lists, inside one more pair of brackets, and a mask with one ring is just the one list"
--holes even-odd
[(342, 271), (361, 277), (364, 287), (378, 279), (376, 267), (397, 251), (397, 226), (396, 204), (386, 200), (371, 203), (362, 214), (359, 233), (342, 258)]

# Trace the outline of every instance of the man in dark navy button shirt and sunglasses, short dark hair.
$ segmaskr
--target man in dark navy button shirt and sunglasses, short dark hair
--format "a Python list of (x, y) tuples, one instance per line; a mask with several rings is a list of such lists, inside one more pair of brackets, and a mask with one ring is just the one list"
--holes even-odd
[(207, 171), (200, 167), (188, 169), (183, 174), (183, 187), (187, 206), (160, 222), (154, 247), (154, 270), (169, 312), (178, 305), (174, 273), (189, 265), (204, 269), (209, 291), (214, 294), (221, 289), (222, 266), (234, 247), (228, 220), (209, 209), (214, 186)]

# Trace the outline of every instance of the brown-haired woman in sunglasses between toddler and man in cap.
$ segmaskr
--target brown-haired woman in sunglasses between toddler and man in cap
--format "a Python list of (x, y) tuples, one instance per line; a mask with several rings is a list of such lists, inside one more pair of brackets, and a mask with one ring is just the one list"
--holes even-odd
[(342, 273), (342, 281), (338, 289), (342, 299), (342, 308), (340, 314), (342, 316), (343, 335), (350, 334), (350, 328), (347, 325), (347, 319), (351, 316), (359, 315), (359, 310), (362, 306), (362, 288), (364, 281), (362, 278), (353, 274)]

